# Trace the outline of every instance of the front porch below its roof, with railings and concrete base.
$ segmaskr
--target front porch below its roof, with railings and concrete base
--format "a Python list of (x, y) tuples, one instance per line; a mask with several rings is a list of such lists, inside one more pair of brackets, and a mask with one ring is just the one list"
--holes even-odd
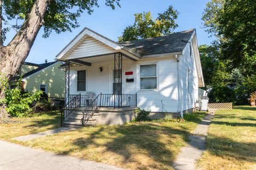
[[(123, 124), (132, 120), (132, 113), (137, 108), (137, 93), (134, 77), (132, 82), (128, 82), (125, 78), (131, 76), (125, 76), (125, 69), (133, 70), (134, 60), (130, 57), (123, 59), (123, 56), (119, 52), (66, 60), (66, 99), (62, 125), (67, 125), (67, 122), (74, 126)], [(133, 68), (129, 68), (131, 66)], [(106, 117), (109, 119), (106, 120)]]

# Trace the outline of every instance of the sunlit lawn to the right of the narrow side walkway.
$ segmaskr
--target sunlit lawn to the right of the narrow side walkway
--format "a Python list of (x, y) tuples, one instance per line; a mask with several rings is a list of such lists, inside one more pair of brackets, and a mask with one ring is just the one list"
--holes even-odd
[(199, 169), (256, 169), (256, 107), (218, 111)]

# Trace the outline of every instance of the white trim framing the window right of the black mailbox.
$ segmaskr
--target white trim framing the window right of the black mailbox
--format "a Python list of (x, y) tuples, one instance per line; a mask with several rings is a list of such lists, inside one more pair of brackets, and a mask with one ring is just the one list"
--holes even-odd
[[(150, 76), (150, 77), (140, 77), (140, 66), (141, 65), (156, 65), (156, 76)], [(150, 61), (150, 62), (143, 62), (143, 63), (140, 63), (140, 64), (138, 64), (138, 74), (137, 74), (137, 76), (138, 76), (138, 79), (137, 79), (137, 81), (139, 82), (139, 83), (137, 83), (138, 84), (138, 86), (137, 86), (137, 91), (138, 92), (146, 92), (146, 91), (158, 91), (158, 76), (159, 76), (159, 74), (158, 74), (158, 61)], [(141, 78), (156, 78), (156, 88), (155, 89), (141, 89), (140, 88), (140, 79)]]

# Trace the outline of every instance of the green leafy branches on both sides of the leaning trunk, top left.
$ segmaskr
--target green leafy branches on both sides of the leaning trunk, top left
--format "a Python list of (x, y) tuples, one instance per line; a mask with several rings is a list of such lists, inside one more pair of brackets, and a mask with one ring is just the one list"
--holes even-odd
[[(33, 7), (35, 0), (4, 0), (3, 1), (3, 19), (4, 25), (3, 36), (11, 29), (19, 30), (23, 20)], [(115, 9), (115, 4), (120, 6), (119, 0), (106, 0), (105, 4)], [(50, 1), (44, 16), (44, 35), (49, 37), (52, 31), (57, 33), (70, 31), (79, 27), (77, 18), (87, 11), (88, 14), (93, 12), (93, 7), (99, 7), (98, 0), (76, 0), (76, 1)], [(15, 22), (12, 22), (15, 21)], [(16, 22), (17, 21), (17, 22)], [(20, 23), (20, 24), (19, 24)]]

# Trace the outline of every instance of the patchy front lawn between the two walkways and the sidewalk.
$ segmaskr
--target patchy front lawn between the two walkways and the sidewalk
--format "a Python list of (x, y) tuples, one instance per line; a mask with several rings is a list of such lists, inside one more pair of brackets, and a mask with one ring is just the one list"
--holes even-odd
[(196, 125), (152, 121), (91, 126), (35, 139), (26, 145), (129, 169), (172, 169)]

